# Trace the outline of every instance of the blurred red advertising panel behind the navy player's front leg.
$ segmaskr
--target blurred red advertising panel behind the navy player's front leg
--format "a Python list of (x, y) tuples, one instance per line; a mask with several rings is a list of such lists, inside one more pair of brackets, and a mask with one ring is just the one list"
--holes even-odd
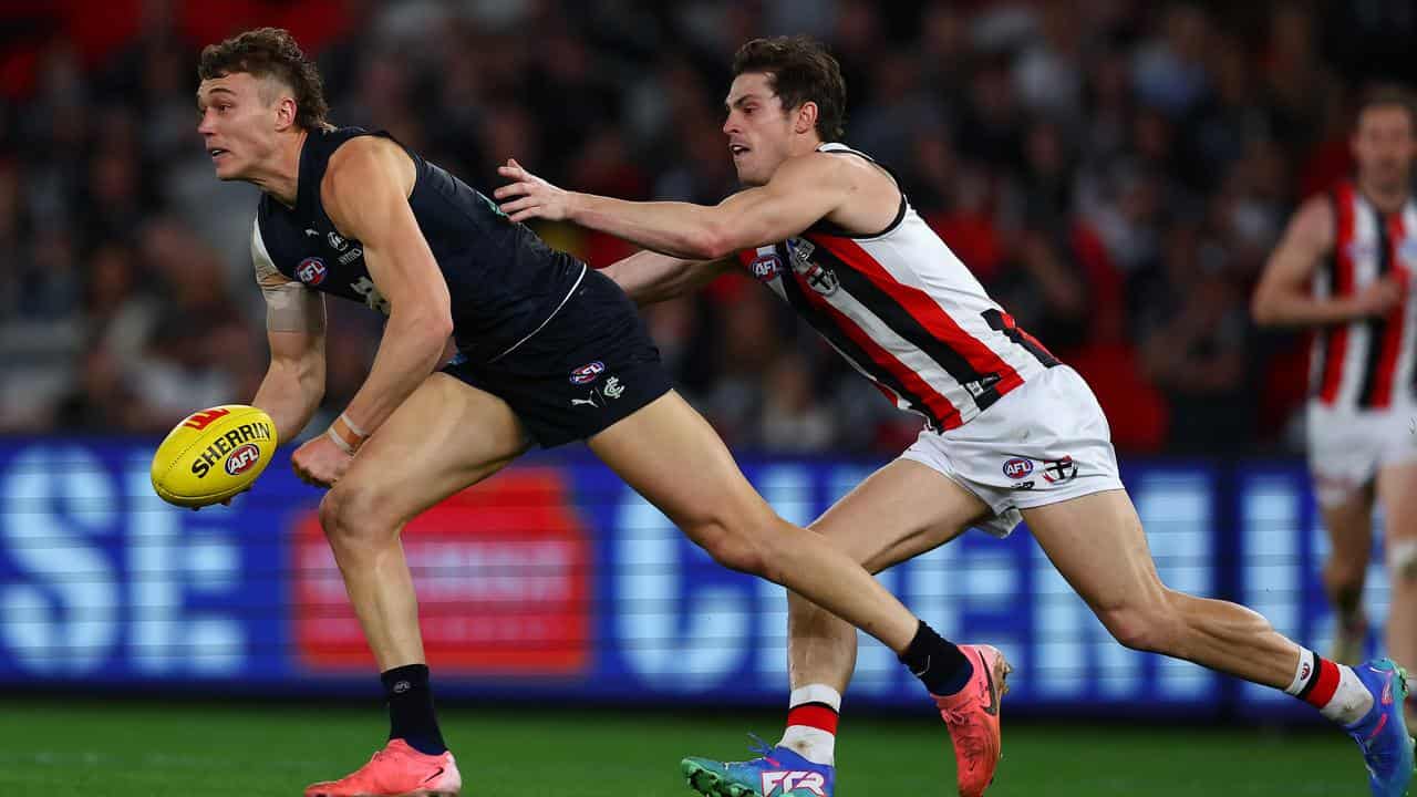
[[(589, 664), (591, 545), (563, 472), (509, 469), (404, 529), (428, 662), (439, 674), (575, 675)], [(296, 520), (293, 631), (309, 671), (370, 671), (319, 518)]]

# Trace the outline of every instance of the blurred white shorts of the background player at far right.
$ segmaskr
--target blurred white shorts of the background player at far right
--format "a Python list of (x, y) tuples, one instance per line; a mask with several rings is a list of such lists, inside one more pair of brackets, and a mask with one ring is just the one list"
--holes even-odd
[(1342, 503), (1379, 468), (1417, 462), (1413, 407), (1357, 410), (1309, 403), (1309, 474), (1323, 506)]

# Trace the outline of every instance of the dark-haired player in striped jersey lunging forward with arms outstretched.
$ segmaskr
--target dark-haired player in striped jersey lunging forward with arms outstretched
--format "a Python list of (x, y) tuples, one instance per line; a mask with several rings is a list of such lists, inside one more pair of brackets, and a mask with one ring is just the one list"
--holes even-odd
[[(639, 302), (741, 264), (891, 401), (921, 414), (918, 441), (812, 525), (871, 572), (971, 525), (1005, 535), (1022, 512), (1119, 642), (1309, 702), (1357, 740), (1374, 796), (1404, 793), (1413, 750), (1393, 701), (1406, 693), (1401, 671), (1387, 659), (1360, 668), (1329, 661), (1246, 607), (1161, 581), (1091, 390), (989, 299), (888, 172), (835, 143), (846, 88), (822, 45), (805, 37), (754, 40), (738, 51), (733, 74), (723, 130), (750, 187), (718, 206), (570, 193), (514, 160), (500, 169), (512, 183), (495, 196), (513, 220), (565, 218), (650, 250), (608, 269)], [(781, 762), (801, 754), (825, 780), (835, 774), (836, 716), (856, 632), (789, 596), (789, 637), (792, 696), (781, 743), (750, 762), (687, 759), (699, 791), (829, 791), (781, 777)], [(966, 796), (983, 791), (999, 753), (996, 728), (989, 733), (955, 713), (979, 699), (992, 701), (988, 691), (937, 701)]]

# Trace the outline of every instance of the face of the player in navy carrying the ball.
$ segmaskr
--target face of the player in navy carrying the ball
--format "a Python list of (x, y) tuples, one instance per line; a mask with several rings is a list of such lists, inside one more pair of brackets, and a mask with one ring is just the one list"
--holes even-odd
[(261, 79), (237, 72), (201, 81), (197, 89), (197, 132), (221, 180), (251, 174), (275, 152), (279, 104), (266, 102), (262, 88)]

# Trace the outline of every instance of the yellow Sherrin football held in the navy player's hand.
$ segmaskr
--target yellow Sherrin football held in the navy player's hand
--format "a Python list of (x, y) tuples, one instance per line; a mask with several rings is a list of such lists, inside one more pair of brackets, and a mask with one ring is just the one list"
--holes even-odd
[(153, 454), (153, 491), (177, 506), (225, 501), (256, 481), (278, 442), (275, 421), (256, 407), (222, 404), (193, 413)]

